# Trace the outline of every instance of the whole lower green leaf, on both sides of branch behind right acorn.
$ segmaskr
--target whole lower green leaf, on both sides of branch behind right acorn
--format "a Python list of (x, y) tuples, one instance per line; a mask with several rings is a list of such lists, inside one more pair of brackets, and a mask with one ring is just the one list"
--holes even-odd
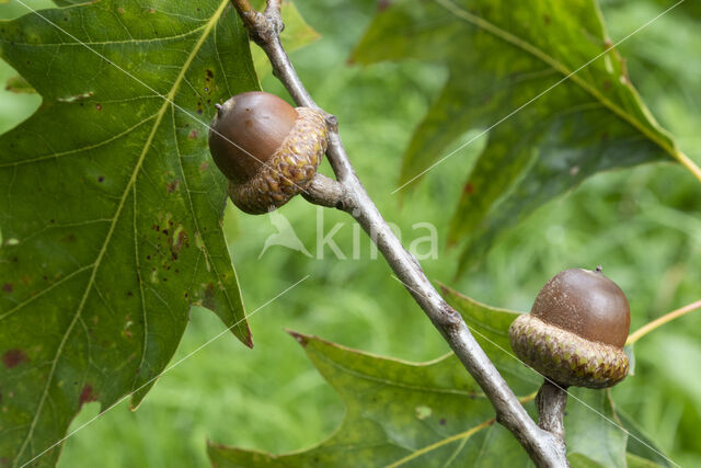
[[(542, 377), (512, 355), (508, 327), (517, 313), (446, 287), (444, 293), (512, 389), (527, 396), (521, 400), (532, 415), (531, 401)], [(346, 404), (341, 427), (318, 446), (286, 455), (210, 444), (212, 465), (530, 466), (516, 438), (494, 423), (491, 403), (455, 355), (415, 364), (292, 335)], [(607, 393), (571, 389), (571, 395), (565, 418), (568, 457), (579, 463), (573, 466), (624, 467), (625, 432), (610, 422), (616, 413)]]

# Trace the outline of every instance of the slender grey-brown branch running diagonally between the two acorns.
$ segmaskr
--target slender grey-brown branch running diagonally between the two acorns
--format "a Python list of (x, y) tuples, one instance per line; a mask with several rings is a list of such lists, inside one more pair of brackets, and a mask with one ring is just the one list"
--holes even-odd
[[(274, 75), (298, 105), (320, 109), (295, 71), (279, 38), (284, 28), (279, 1), (269, 0), (263, 13), (251, 11), (246, 0), (232, 0), (251, 38), (267, 54)], [(321, 110), (321, 109), (320, 109)], [(323, 110), (321, 110), (324, 112)], [(464, 320), (438, 294), (418, 261), (407, 252), (380, 215), (360, 183), (341, 140), (336, 117), (326, 113), (326, 156), (336, 181), (318, 174), (303, 195), (309, 202), (342, 209), (355, 218), (377, 244), (397, 277), (448, 342), (466, 369), (482, 387), (496, 410), (496, 420), (508, 429), (539, 467), (567, 466), (564, 441), (539, 427), (474, 336)]]

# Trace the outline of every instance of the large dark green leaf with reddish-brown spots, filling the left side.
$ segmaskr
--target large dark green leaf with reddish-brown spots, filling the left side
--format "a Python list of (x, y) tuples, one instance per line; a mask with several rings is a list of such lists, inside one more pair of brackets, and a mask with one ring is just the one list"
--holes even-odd
[(136, 408), (193, 305), (252, 345), (207, 124), (257, 78), (228, 0), (44, 10), (0, 23), (0, 56), (43, 96), (0, 137), (0, 458), (22, 465), (83, 403)]

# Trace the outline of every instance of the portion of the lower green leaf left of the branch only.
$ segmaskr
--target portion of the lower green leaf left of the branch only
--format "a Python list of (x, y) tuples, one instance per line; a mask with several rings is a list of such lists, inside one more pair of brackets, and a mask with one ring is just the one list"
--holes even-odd
[(413, 364), (292, 333), (346, 403), (341, 427), (317, 447), (275, 456), (209, 445), (218, 467), (527, 466), (516, 440), (452, 355)]

